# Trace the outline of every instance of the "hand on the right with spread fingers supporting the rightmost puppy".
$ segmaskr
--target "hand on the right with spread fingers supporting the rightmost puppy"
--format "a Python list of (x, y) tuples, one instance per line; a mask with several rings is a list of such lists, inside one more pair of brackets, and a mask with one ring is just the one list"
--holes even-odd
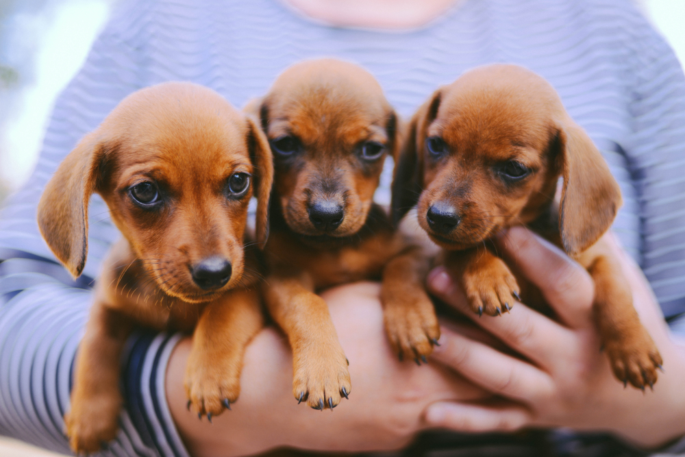
[(503, 400), (436, 402), (427, 423), (462, 432), (506, 431), (527, 426), (603, 430), (654, 447), (685, 434), (685, 345), (664, 322), (645, 277), (611, 234), (603, 236), (630, 283), (640, 320), (664, 359), (653, 392), (624, 388), (614, 378), (593, 323), (594, 285), (562, 251), (523, 227), (499, 239), (510, 265), (545, 295), (559, 322), (527, 306), (501, 317), (478, 318), (445, 269), (428, 278), (429, 289), (523, 357), (505, 354), (443, 325), (432, 360), (451, 367)]

